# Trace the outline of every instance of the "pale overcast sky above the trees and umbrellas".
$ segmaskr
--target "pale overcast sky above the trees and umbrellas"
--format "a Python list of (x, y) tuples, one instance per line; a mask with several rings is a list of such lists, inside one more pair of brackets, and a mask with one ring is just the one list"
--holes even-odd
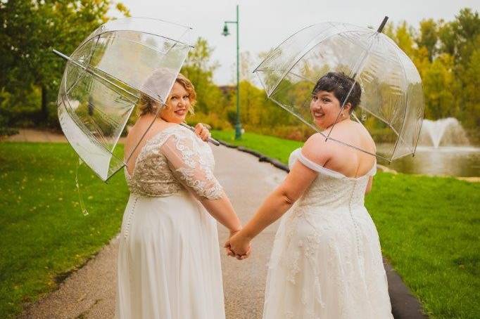
[[(460, 8), (480, 11), (480, 0), (120, 0), (134, 17), (160, 18), (194, 28), (196, 37), (206, 38), (213, 46), (213, 59), (220, 63), (215, 72), (217, 84), (234, 83), (236, 39), (221, 35), (225, 20), (235, 20), (240, 6), (240, 51), (251, 52), (255, 63), (258, 53), (276, 47), (286, 37), (308, 25), (324, 21), (350, 22), (377, 27), (384, 15), (389, 22), (406, 20), (418, 27), (424, 18), (453, 20)], [(256, 66), (256, 65), (255, 65)]]

